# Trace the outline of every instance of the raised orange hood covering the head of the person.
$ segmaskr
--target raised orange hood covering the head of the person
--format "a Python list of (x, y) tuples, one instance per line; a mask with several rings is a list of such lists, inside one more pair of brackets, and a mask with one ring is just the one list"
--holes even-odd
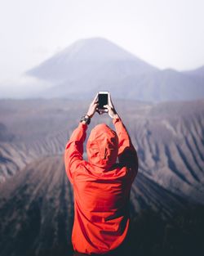
[(110, 168), (118, 156), (117, 133), (107, 124), (97, 124), (87, 140), (86, 153), (90, 164)]

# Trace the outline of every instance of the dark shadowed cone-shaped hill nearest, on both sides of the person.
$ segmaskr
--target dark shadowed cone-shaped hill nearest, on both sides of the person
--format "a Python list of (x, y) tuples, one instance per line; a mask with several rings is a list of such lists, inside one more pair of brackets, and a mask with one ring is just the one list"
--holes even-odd
[[(189, 212), (190, 207), (184, 199), (139, 173), (131, 191), (128, 251), (132, 255), (162, 255), (166, 251), (166, 255), (180, 251), (187, 254), (184, 243), (190, 239), (190, 248), (195, 246), (198, 252), (202, 249), (199, 236), (203, 234), (204, 208)], [(0, 210), (1, 256), (72, 255), (73, 191), (62, 155), (33, 161), (4, 182)], [(195, 235), (199, 235), (198, 240)]]

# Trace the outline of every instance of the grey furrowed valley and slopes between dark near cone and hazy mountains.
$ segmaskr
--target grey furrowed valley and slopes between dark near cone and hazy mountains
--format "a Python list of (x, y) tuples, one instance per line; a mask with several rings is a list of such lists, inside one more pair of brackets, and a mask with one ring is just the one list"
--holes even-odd
[[(138, 150), (140, 171), (168, 191), (202, 202), (204, 101), (114, 102)], [(87, 106), (88, 101), (65, 99), (0, 101), (2, 124), (7, 127), (0, 141), (1, 181), (7, 182), (39, 157), (63, 154)], [(107, 115), (96, 113), (88, 134), (100, 122), (113, 128)]]

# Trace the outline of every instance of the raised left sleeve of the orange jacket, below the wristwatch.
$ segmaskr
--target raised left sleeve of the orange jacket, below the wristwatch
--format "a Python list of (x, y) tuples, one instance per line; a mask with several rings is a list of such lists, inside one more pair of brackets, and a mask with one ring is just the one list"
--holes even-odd
[(86, 139), (86, 129), (87, 124), (79, 123), (65, 146), (64, 166), (71, 183), (73, 183), (73, 173), (83, 162), (83, 142)]

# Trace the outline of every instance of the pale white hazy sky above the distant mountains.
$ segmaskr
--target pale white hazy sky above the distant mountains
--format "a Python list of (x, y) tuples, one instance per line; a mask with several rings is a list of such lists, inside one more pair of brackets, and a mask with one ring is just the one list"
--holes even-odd
[(0, 0), (0, 83), (91, 37), (159, 68), (197, 68), (204, 65), (203, 13), (203, 0)]

